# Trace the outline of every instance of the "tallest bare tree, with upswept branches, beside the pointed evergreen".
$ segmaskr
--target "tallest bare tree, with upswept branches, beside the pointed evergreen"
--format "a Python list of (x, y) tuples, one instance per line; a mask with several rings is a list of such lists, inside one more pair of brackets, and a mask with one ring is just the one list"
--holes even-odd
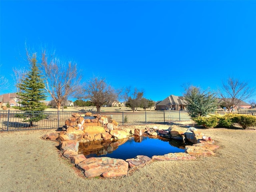
[(75, 63), (66, 64), (54, 54), (48, 58), (45, 50), (42, 51), (41, 70), (45, 89), (56, 102), (59, 111), (64, 101), (80, 89), (81, 73), (77, 71)]

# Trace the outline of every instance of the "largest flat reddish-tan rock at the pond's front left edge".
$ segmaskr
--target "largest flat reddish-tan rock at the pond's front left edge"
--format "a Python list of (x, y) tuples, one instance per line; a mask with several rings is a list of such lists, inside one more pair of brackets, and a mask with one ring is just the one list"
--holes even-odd
[(78, 167), (84, 170), (84, 175), (88, 178), (116, 177), (128, 174), (128, 163), (122, 159), (109, 157), (91, 157), (78, 164)]

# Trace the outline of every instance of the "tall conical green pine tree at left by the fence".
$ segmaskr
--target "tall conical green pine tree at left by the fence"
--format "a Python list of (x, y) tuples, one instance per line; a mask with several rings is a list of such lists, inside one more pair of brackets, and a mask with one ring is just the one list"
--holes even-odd
[(45, 85), (38, 69), (36, 53), (32, 57), (28, 55), (28, 62), (30, 70), (17, 85), (20, 88), (20, 92), (17, 93), (20, 100), (18, 103), (21, 105), (15, 108), (25, 111), (24, 114), (19, 115), (19, 118), (23, 118), (24, 122), (29, 122), (29, 126), (33, 126), (33, 122), (38, 122), (46, 117), (42, 111), (47, 107), (42, 102), (46, 99)]

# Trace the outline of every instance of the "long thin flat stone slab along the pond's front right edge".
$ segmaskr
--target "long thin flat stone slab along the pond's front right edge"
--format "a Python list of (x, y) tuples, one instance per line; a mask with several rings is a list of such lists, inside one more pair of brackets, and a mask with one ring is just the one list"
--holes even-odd
[(154, 155), (152, 156), (153, 160), (158, 161), (174, 161), (174, 160), (194, 160), (196, 157), (191, 156), (187, 153), (168, 153), (165, 155)]

